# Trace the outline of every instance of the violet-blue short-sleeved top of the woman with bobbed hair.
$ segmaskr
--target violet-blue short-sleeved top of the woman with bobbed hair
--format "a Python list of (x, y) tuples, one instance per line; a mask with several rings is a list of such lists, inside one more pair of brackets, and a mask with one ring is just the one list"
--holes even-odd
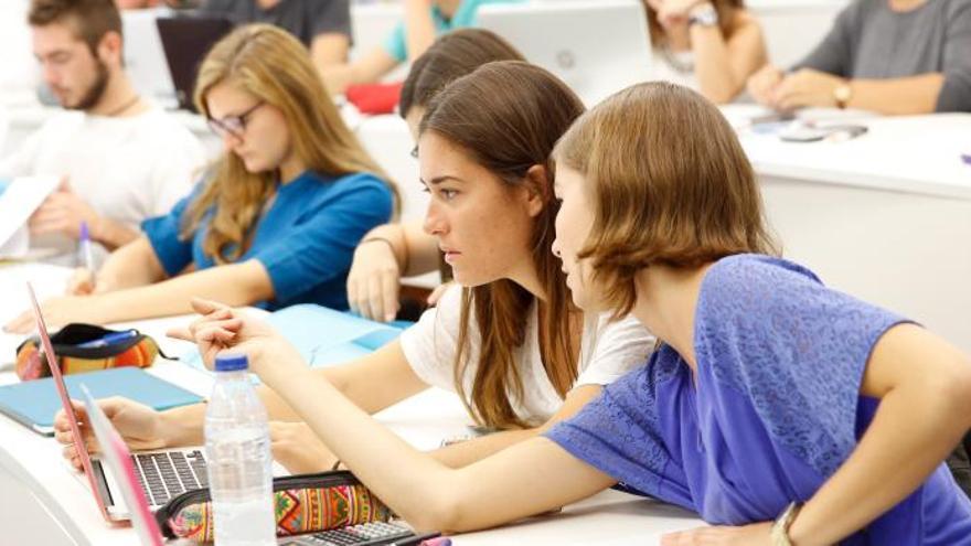
[[(547, 437), (639, 492), (708, 523), (776, 518), (846, 461), (879, 400), (869, 354), (904, 319), (766, 256), (724, 258), (695, 310), (697, 376), (663, 345)], [(971, 502), (941, 463), (845, 545), (971, 545)]]

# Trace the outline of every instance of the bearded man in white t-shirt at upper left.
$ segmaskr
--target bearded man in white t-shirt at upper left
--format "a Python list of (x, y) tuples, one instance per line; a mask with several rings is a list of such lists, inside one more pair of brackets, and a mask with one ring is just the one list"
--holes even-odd
[(28, 20), (44, 82), (67, 111), (0, 160), (0, 178), (63, 180), (31, 217), (31, 236), (45, 239), (34, 246), (73, 250), (82, 222), (109, 250), (130, 243), (192, 188), (202, 146), (135, 90), (111, 0), (33, 0)]

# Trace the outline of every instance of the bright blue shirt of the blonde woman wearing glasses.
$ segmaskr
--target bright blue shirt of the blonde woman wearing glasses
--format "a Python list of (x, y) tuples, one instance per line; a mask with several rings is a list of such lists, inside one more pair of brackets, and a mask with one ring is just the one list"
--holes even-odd
[[(199, 184), (169, 214), (141, 225), (170, 277), (190, 264), (196, 269), (215, 265), (202, 250), (212, 212), (191, 239), (179, 237), (183, 214), (201, 191)], [(280, 185), (255, 226), (252, 245), (237, 260), (257, 259), (269, 274), (275, 297), (256, 306), (348, 309), (345, 283), (354, 247), (371, 228), (391, 220), (392, 208), (391, 190), (372, 174), (334, 178), (307, 171)]]

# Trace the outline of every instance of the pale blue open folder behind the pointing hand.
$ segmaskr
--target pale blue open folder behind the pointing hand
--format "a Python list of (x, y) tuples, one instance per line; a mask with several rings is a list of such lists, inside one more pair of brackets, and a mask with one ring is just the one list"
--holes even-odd
[[(313, 303), (281, 309), (266, 320), (300, 351), (300, 356), (311, 367), (340, 364), (364, 356), (397, 339), (402, 330), (410, 325), (374, 322)], [(204, 370), (195, 350), (180, 360)]]

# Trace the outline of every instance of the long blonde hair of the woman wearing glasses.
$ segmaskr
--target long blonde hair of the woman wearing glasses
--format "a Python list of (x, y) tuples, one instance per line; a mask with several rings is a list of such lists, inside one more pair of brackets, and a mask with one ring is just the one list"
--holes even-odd
[[(206, 117), (206, 94), (223, 82), (232, 82), (282, 113), (295, 151), (309, 170), (330, 175), (370, 172), (381, 176), (395, 194), (397, 208), (395, 185), (344, 125), (306, 47), (296, 38), (269, 24), (252, 24), (214, 45), (202, 62), (195, 84), (195, 105)], [(224, 153), (199, 197), (190, 204), (180, 236), (192, 237), (215, 205), (202, 248), (216, 264), (238, 259), (264, 204), (276, 192), (277, 178), (276, 171), (248, 172), (235, 153)]]

